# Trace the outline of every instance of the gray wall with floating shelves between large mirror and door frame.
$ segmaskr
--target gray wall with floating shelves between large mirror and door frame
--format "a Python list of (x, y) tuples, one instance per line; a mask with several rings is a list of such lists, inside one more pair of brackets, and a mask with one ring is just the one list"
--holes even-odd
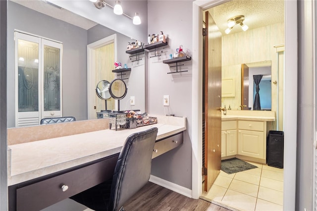
[[(168, 35), (168, 46), (161, 56), (149, 58), (147, 104), (151, 114), (175, 114), (187, 117), (187, 130), (184, 132), (184, 144), (152, 161), (151, 174), (185, 188), (192, 188), (192, 61), (184, 62), (181, 70), (188, 72), (167, 74), (176, 71), (162, 60), (174, 54), (179, 45), (192, 50), (192, 1), (165, 0), (148, 1), (148, 34), (163, 31)], [(191, 54), (190, 54), (191, 55)], [(195, 70), (197, 71), (197, 70)], [(163, 106), (163, 95), (169, 95), (169, 106)]]

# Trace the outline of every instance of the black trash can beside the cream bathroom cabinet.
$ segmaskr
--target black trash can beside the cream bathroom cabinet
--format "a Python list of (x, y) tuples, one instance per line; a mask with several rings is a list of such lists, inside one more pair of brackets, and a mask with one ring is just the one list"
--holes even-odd
[(284, 161), (284, 132), (270, 130), (266, 142), (267, 165), (283, 168)]

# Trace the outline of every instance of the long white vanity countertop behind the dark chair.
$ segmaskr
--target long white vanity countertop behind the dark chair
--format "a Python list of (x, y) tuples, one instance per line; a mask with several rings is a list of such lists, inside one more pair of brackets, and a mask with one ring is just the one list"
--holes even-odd
[(119, 153), (129, 135), (150, 127), (159, 129), (157, 140), (179, 133), (186, 130), (186, 118), (183, 119), (183, 125), (158, 123), (135, 129), (118, 129), (118, 131), (106, 129), (10, 145), (8, 146), (8, 185)]

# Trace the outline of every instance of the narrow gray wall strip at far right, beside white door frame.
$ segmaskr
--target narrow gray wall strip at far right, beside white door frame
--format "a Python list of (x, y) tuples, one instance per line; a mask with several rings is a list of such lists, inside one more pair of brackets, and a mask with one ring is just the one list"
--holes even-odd
[[(313, 210), (314, 188), (314, 4), (298, 1), (298, 125), (296, 210)], [(316, 11), (316, 10), (315, 10)], [(286, 70), (287, 71), (287, 70)], [(287, 141), (287, 140), (285, 140)], [(316, 183), (315, 183), (316, 186)]]

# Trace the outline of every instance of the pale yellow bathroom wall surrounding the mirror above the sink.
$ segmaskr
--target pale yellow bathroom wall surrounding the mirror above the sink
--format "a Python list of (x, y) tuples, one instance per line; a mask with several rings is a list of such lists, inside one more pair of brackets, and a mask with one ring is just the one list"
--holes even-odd
[[(240, 109), (241, 64), (271, 61), (271, 81), (278, 81), (276, 85), (272, 84), (272, 110), (276, 111), (277, 86), (282, 87), (283, 75), (281, 72), (278, 75), (278, 55), (274, 46), (281, 44), (284, 44), (284, 22), (222, 36), (222, 76), (236, 78), (235, 97), (222, 98), (222, 106), (226, 105), (228, 108), (230, 105), (232, 109)], [(280, 90), (278, 98), (282, 101), (282, 90)], [(279, 122), (282, 122), (281, 112), (278, 117), (281, 119)]]

